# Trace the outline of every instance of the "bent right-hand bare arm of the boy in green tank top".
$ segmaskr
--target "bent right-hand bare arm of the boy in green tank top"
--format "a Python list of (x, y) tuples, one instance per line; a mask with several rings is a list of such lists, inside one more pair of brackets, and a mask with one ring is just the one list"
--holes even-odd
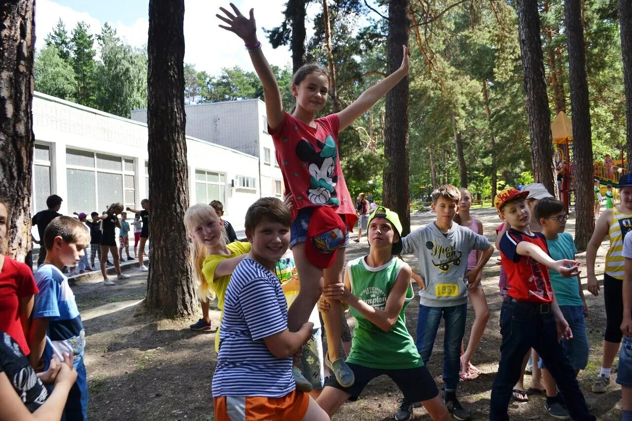
[(325, 286), (324, 293), (327, 299), (333, 298), (348, 303), (366, 317), (371, 323), (385, 332), (391, 331), (395, 326), (401, 308), (404, 306), (406, 290), (410, 284), (412, 270), (409, 265), (405, 265), (393, 284), (391, 292), (386, 299), (386, 307), (375, 308), (363, 302), (351, 292), (351, 281), (348, 272), (344, 272), (344, 284), (329, 284)]

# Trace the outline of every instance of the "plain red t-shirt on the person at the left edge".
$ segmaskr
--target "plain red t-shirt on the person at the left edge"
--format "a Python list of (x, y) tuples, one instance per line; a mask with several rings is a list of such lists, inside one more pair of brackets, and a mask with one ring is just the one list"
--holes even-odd
[(11, 336), (20, 345), (24, 355), (28, 355), (30, 350), (20, 321), (20, 298), (37, 292), (39, 290), (31, 269), (5, 256), (0, 271), (0, 331)]

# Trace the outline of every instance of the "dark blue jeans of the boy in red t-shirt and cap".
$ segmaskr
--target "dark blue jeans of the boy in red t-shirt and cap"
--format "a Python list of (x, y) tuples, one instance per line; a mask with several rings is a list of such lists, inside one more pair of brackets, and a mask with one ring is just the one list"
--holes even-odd
[[(544, 305), (546, 306), (546, 305)], [(575, 379), (575, 370), (566, 351), (557, 342), (553, 314), (546, 307), (505, 298), (501, 307), (501, 361), (492, 386), (490, 420), (509, 421), (507, 406), (514, 384), (520, 377), (522, 360), (529, 348), (535, 349), (557, 383), (573, 420), (596, 420), (588, 413), (584, 395)]]

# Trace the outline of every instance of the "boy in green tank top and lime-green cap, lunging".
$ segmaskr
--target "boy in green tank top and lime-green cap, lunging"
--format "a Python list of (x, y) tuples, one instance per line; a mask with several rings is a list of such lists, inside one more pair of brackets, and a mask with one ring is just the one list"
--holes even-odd
[[(358, 398), (368, 382), (387, 375), (404, 394), (396, 420), (409, 420), (412, 403), (421, 402), (433, 420), (449, 420), (437, 385), (423, 365), (415, 341), (406, 329), (404, 309), (414, 294), (411, 269), (394, 255), (401, 252), (401, 223), (395, 212), (378, 207), (368, 219), (370, 253), (351, 260), (344, 283), (325, 286), (328, 300), (340, 300), (356, 319), (353, 345), (346, 363), (355, 383), (343, 387), (331, 376), (317, 403), (331, 417), (352, 396)], [(319, 301), (327, 311), (328, 303)]]

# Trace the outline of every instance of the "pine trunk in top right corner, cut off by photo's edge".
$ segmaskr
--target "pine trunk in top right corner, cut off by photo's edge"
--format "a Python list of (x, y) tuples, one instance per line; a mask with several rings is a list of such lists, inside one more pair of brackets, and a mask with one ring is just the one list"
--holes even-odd
[(632, 1), (619, 0), (619, 27), (623, 56), (623, 82), (626, 90), (626, 154), (628, 174), (632, 173)]

